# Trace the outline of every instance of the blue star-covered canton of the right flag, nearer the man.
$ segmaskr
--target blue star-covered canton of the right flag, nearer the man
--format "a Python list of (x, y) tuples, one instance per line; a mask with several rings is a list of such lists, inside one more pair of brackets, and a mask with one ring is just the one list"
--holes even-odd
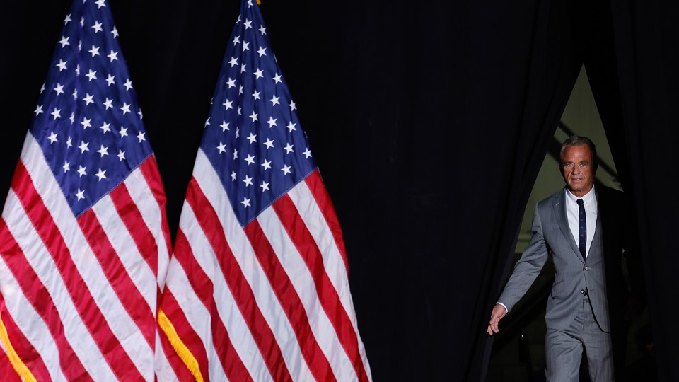
[(241, 226), (316, 168), (252, 1), (243, 2), (231, 33), (201, 148)]

